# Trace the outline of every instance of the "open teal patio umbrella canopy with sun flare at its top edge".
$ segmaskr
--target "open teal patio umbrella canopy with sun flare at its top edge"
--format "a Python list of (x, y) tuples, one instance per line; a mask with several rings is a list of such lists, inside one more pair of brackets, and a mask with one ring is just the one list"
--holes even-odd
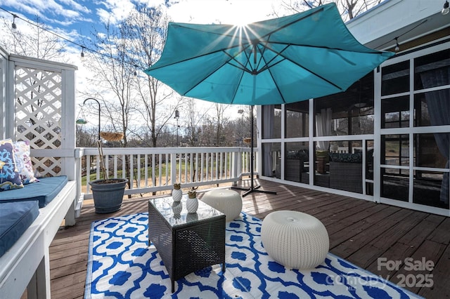
[(243, 27), (170, 22), (145, 72), (191, 98), (270, 105), (345, 91), (392, 55), (359, 44), (327, 4)]

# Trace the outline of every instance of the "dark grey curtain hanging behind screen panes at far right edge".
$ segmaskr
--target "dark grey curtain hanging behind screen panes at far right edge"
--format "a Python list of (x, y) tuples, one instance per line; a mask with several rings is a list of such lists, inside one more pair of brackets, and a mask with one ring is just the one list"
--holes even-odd
[[(430, 70), (420, 74), (424, 88), (434, 86), (442, 86), (449, 82), (450, 67)], [(432, 126), (442, 126), (450, 124), (450, 90), (432, 91), (425, 93), (427, 100), (428, 114), (430, 114), (430, 122)], [(439, 152), (446, 157), (447, 163), (445, 168), (449, 168), (450, 156), (450, 133), (436, 133), (435, 140)], [(449, 173), (444, 173), (441, 185), (441, 201), (445, 204), (449, 203)]]

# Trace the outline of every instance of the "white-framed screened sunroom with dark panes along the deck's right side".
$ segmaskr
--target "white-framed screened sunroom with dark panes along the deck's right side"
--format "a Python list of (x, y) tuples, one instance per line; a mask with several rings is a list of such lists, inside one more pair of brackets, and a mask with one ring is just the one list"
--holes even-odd
[[(343, 93), (260, 107), (262, 175), (450, 215), (450, 32), (439, 7), (384, 1), (348, 22), (367, 46), (397, 54)], [(391, 21), (375, 26), (374, 15)]]

